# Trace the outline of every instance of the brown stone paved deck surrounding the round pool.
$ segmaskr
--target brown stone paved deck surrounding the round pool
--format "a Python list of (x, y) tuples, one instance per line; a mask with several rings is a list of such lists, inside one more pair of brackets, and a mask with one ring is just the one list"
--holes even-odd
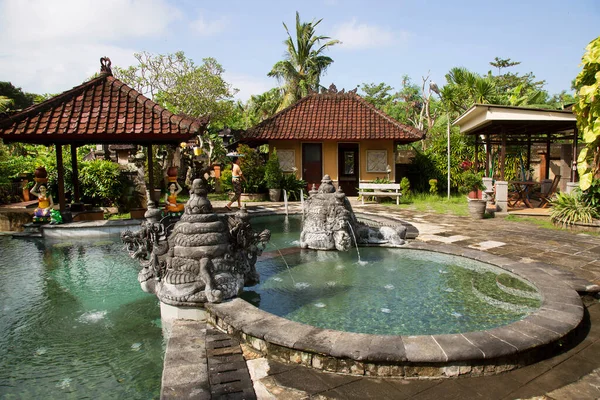
[[(418, 212), (405, 206), (351, 199), (356, 212), (402, 219), (419, 229), (417, 241), (482, 250), (521, 263), (543, 262), (577, 290), (585, 315), (558, 354), (497, 375), (452, 379), (397, 379), (339, 375), (253, 356), (246, 358), (258, 398), (264, 399), (598, 399), (600, 398), (600, 236), (540, 228), (504, 217)], [(224, 202), (223, 202), (224, 204)], [(213, 202), (213, 206), (222, 206)], [(283, 211), (280, 203), (247, 203), (251, 212)], [(235, 211), (235, 209), (234, 209)], [(289, 212), (299, 212), (291, 203)]]

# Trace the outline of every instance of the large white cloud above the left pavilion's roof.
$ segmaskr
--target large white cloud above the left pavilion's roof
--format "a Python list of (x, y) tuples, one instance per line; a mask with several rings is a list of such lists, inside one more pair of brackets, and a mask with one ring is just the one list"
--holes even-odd
[(0, 2), (0, 77), (25, 91), (57, 93), (100, 71), (133, 63), (128, 39), (168, 34), (181, 12), (166, 0)]

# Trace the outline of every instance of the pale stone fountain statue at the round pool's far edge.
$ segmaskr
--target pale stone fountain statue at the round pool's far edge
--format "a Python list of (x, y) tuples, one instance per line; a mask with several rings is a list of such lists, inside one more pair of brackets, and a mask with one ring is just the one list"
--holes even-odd
[(316, 250), (347, 251), (356, 245), (404, 244), (406, 227), (370, 227), (360, 223), (350, 201), (329, 175), (324, 175), (319, 189), (313, 188), (304, 202), (304, 224), (300, 233), (300, 247)]

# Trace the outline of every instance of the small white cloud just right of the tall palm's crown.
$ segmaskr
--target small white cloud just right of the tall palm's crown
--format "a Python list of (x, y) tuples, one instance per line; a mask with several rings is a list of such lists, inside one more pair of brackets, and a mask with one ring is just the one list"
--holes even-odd
[(375, 47), (389, 47), (406, 42), (410, 33), (392, 31), (376, 25), (358, 23), (356, 18), (334, 28), (333, 38), (342, 42), (343, 49), (363, 50)]

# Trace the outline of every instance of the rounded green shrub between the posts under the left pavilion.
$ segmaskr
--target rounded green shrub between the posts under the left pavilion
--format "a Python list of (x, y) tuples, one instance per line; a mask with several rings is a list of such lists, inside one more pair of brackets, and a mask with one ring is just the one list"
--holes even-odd
[(93, 205), (116, 204), (124, 190), (119, 164), (107, 160), (84, 161), (79, 170), (82, 200)]

